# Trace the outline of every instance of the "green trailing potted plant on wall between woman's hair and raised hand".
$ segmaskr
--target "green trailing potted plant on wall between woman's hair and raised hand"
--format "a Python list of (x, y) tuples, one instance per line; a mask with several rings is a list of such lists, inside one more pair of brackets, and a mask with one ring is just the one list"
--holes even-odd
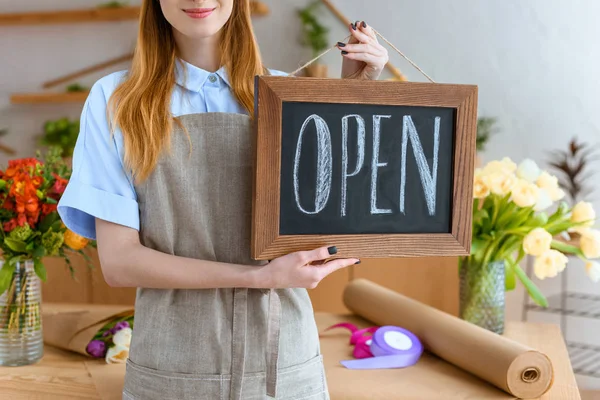
[[(328, 46), (327, 34), (329, 29), (322, 25), (316, 16), (316, 11), (321, 5), (320, 0), (312, 1), (305, 8), (298, 10), (298, 17), (302, 24), (301, 44), (312, 51), (312, 56), (318, 56)], [(327, 65), (313, 63), (306, 67), (306, 75), (315, 78), (327, 77)]]

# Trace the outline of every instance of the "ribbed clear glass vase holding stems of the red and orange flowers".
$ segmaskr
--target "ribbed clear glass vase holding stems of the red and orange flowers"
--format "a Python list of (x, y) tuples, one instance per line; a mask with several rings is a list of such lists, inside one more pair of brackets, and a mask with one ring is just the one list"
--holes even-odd
[(0, 296), (0, 365), (29, 365), (42, 358), (41, 301), (33, 261), (17, 262), (8, 290)]

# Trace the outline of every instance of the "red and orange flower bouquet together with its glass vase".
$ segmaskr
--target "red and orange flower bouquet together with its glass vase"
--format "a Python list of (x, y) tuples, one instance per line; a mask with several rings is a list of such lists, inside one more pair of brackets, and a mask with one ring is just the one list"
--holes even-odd
[(56, 211), (71, 173), (59, 152), (50, 149), (45, 161), (39, 154), (11, 160), (0, 171), (0, 365), (41, 358), (42, 258), (63, 257), (72, 274), (69, 253), (91, 264), (83, 249), (94, 243), (66, 229)]

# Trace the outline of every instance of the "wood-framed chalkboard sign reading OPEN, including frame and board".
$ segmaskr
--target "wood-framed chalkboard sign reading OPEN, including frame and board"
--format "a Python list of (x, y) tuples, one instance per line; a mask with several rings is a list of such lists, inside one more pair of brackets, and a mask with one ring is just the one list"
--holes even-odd
[(252, 257), (470, 250), (477, 87), (257, 77)]

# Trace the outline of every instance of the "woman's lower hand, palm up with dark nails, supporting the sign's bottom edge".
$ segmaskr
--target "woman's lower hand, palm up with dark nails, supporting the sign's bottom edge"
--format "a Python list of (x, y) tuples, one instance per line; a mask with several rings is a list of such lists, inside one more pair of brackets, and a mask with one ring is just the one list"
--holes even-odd
[(334, 246), (298, 251), (276, 258), (258, 267), (259, 281), (265, 288), (314, 289), (327, 275), (338, 269), (360, 263), (358, 258), (325, 261), (337, 252)]

